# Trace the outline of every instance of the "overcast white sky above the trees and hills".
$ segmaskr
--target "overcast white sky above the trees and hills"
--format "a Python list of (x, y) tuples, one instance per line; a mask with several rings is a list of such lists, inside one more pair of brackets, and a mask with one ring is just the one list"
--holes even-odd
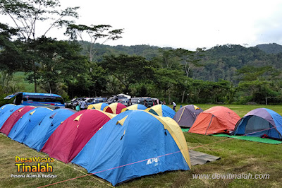
[[(282, 45), (282, 0), (60, 0), (80, 6), (77, 24), (124, 29), (105, 45), (195, 50), (216, 45)], [(67, 39), (52, 31), (58, 39)], [(102, 42), (102, 41), (101, 41)]]

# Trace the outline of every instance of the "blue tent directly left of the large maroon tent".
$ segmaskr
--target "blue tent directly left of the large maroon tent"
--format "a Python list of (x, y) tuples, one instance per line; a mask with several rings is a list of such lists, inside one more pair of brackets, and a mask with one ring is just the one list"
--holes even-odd
[(57, 127), (59, 127), (61, 122), (65, 121), (74, 113), (75, 111), (70, 109), (60, 108), (54, 110), (51, 114), (45, 116), (44, 119), (42, 119), (42, 122), (39, 122), (39, 124), (32, 129), (23, 143), (30, 148), (40, 151), (51, 134), (57, 129)]

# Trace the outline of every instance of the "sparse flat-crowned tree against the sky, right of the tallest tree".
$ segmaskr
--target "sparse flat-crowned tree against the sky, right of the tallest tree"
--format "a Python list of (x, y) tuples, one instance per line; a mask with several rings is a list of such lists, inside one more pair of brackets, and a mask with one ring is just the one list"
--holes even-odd
[(94, 44), (98, 40), (102, 40), (102, 45), (108, 40), (118, 40), (121, 38), (123, 29), (110, 30), (111, 25), (75, 25), (70, 24), (66, 30), (66, 35), (70, 36), (71, 40), (77, 40), (78, 37), (82, 42), (85, 42), (84, 38), (86, 34), (90, 43), (86, 46), (87, 55), (89, 60), (92, 61), (97, 49), (94, 49)]

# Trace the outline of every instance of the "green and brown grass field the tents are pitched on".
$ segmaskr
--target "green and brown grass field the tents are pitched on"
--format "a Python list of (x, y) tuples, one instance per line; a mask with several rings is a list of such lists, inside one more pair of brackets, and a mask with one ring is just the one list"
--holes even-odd
[[(207, 110), (214, 105), (198, 105)], [(267, 107), (282, 114), (282, 106), (262, 105), (224, 105), (231, 108), (243, 117), (244, 114), (257, 107)], [(179, 109), (179, 106), (176, 110)], [(282, 144), (271, 145), (238, 139), (226, 139), (216, 136), (204, 136), (199, 134), (184, 133), (189, 148), (221, 159), (205, 165), (192, 166), (192, 170), (164, 172), (157, 175), (140, 177), (119, 187), (282, 187)], [(197, 147), (197, 148), (196, 148)], [(38, 153), (27, 146), (12, 141), (7, 136), (0, 134), (0, 187), (39, 187), (54, 182), (69, 180), (74, 177), (86, 175), (83, 168), (74, 164), (64, 164), (55, 160), (52, 165), (56, 178), (13, 178), (16, 173), (15, 156), (43, 157), (44, 153)], [(193, 179), (197, 174), (269, 174), (269, 179)], [(23, 174), (23, 173), (20, 173)], [(47, 173), (48, 174), (48, 173)], [(110, 187), (109, 183), (93, 175), (81, 177), (75, 180), (56, 184), (51, 187)]]

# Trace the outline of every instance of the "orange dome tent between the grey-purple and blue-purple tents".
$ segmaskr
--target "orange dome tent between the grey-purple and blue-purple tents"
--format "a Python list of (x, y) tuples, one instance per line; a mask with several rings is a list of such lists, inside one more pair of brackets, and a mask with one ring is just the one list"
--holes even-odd
[(211, 107), (197, 116), (188, 132), (197, 134), (229, 134), (240, 117), (228, 107)]

